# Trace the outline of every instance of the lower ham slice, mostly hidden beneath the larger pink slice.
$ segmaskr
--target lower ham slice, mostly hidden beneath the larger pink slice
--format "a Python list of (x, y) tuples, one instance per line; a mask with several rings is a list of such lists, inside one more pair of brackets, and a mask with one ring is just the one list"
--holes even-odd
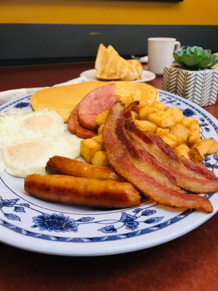
[(81, 139), (89, 139), (96, 136), (97, 133), (81, 126), (78, 119), (79, 104), (76, 105), (68, 119), (68, 129), (72, 134), (76, 134)]

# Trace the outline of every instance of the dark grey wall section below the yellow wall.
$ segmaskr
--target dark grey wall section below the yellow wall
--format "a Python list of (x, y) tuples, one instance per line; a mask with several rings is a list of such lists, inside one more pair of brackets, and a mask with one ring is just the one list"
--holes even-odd
[(0, 24), (0, 61), (95, 57), (113, 45), (120, 55), (146, 55), (148, 37), (175, 37), (181, 45), (218, 52), (218, 25)]

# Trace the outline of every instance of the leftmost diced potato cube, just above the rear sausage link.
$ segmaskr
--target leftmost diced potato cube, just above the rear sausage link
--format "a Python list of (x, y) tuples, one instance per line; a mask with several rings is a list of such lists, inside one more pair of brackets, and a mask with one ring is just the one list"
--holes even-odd
[(90, 163), (94, 153), (102, 150), (102, 145), (94, 139), (84, 139), (80, 143), (80, 151), (83, 159)]

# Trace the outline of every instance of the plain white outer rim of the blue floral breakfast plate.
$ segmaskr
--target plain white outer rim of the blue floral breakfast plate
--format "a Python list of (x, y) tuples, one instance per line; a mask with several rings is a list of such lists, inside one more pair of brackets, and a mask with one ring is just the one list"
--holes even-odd
[[(178, 100), (181, 100), (182, 97), (175, 95), (173, 93), (169, 93), (163, 90), (158, 90), (159, 92), (166, 94), (166, 95), (172, 95), (173, 97), (176, 97)], [(31, 95), (27, 95), (23, 98), (18, 98), (16, 100), (14, 100), (13, 102), (7, 102), (4, 105), (0, 106), (0, 109), (2, 108), (6, 108), (8, 106), (10, 106), (13, 103), (16, 103), (20, 100), (26, 99)], [(213, 117), (213, 115), (211, 115), (209, 112), (207, 112), (205, 109), (201, 108), (200, 106), (198, 106), (197, 104), (190, 102), (186, 99), (182, 99), (183, 102), (187, 102), (188, 105), (192, 105), (193, 108), (198, 109), (200, 112), (204, 113), (204, 115), (206, 115), (208, 118), (211, 119), (212, 122), (214, 122), (217, 126), (217, 119), (215, 117)], [(214, 198), (214, 197), (213, 197)], [(128, 242), (127, 244), (124, 243), (124, 245), (121, 246), (116, 246), (114, 245), (114, 241), (107, 241), (107, 242), (102, 242), (104, 243), (109, 243), (110, 247), (96, 247), (96, 248), (81, 248), (81, 250), (79, 250), (78, 248), (76, 248), (76, 251), (72, 251), (72, 249), (74, 249), (75, 247), (72, 247), (72, 249), (70, 250), (68, 247), (65, 249), (62, 249), (62, 251), (60, 252), (60, 248), (58, 247), (50, 247), (49, 241), (47, 241), (47, 243), (45, 243), (45, 245), (43, 245), (41, 242), (40, 243), (36, 243), (35, 242), (35, 238), (34, 237), (27, 237), (27, 236), (23, 236), (25, 237), (25, 239), (23, 240), (21, 237), (20, 233), (13, 233), (13, 236), (11, 236), (11, 230), (10, 229), (6, 229), (4, 228), (4, 231), (0, 233), (0, 241), (21, 249), (26, 249), (26, 250), (30, 250), (30, 251), (35, 251), (35, 252), (39, 252), (39, 253), (48, 253), (48, 254), (56, 254), (56, 255), (66, 255), (66, 256), (97, 256), (97, 255), (109, 255), (109, 254), (117, 254), (117, 253), (125, 253), (125, 252), (131, 252), (131, 251), (136, 251), (136, 250), (140, 250), (140, 249), (145, 249), (148, 247), (152, 247), (152, 246), (156, 246), (162, 243), (165, 243), (167, 241), (170, 241), (172, 239), (175, 239), (193, 229), (195, 229), (197, 226), (201, 225), (203, 222), (205, 222), (206, 220), (210, 219), (210, 217), (212, 217), (216, 212), (218, 211), (218, 207), (216, 209), (214, 209), (214, 211), (210, 214), (203, 214), (201, 216), (201, 219), (197, 220), (195, 223), (193, 223), (192, 225), (189, 225), (188, 227), (186, 227), (185, 229), (180, 229), (176, 232), (173, 232), (171, 235), (166, 236), (164, 239), (160, 238), (158, 240), (155, 240), (153, 242), (150, 242), (149, 245), (146, 245), (146, 242), (144, 242), (143, 240), (141, 240), (138, 243), (131, 243), (134, 238), (133, 237), (129, 237), (128, 238)], [(161, 230), (160, 230), (161, 231)], [(2, 235), (3, 233), (3, 235)], [(5, 235), (5, 233), (7, 233), (7, 235)], [(143, 235), (142, 235), (143, 236)], [(39, 241), (43, 241), (41, 239), (39, 239)], [(121, 241), (121, 240), (120, 240)], [(123, 240), (122, 240), (123, 241)], [(57, 244), (59, 243), (61, 246), (63, 246), (63, 242), (56, 242)], [(92, 243), (93, 244), (99, 244), (100, 242), (95, 242)], [(32, 247), (32, 244), (34, 244), (34, 248)], [(71, 243), (72, 246), (75, 246), (75, 244), (77, 243)], [(106, 244), (104, 246), (106, 246)]]

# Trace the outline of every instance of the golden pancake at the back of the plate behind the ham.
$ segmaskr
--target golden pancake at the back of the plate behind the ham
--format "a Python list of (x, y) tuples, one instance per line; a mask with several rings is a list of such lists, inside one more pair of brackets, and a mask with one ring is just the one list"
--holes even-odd
[(51, 87), (35, 92), (31, 97), (31, 105), (34, 110), (55, 110), (68, 122), (68, 117), (75, 106), (90, 91), (105, 84), (115, 83), (116, 95), (121, 97), (131, 96), (135, 100), (147, 100), (148, 104), (158, 100), (159, 93), (157, 89), (146, 83), (133, 83), (123, 81), (111, 82), (82, 82), (79, 84)]

